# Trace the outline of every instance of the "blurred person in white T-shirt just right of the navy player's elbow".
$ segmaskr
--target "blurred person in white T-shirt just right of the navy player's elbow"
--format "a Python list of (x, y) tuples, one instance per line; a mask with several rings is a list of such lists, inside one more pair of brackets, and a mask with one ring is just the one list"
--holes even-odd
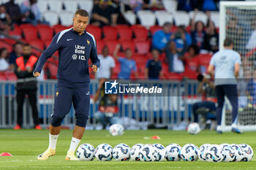
[(98, 58), (102, 66), (100, 66), (99, 72), (96, 73), (97, 79), (110, 79), (116, 64), (113, 57), (109, 55), (107, 46), (103, 48), (102, 55), (98, 55)]

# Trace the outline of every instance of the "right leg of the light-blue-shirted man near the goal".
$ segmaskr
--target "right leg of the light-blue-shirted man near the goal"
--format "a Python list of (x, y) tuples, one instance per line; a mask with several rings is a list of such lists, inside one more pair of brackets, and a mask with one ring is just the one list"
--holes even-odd
[(238, 134), (243, 132), (237, 128), (237, 119), (238, 119), (238, 93), (236, 85), (225, 85), (224, 87), (225, 94), (230, 101), (232, 106), (232, 131)]

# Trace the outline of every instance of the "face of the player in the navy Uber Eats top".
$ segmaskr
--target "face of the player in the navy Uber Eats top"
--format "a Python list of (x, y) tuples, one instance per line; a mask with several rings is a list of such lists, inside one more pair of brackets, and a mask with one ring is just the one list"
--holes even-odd
[(73, 18), (73, 29), (82, 34), (88, 25), (89, 17), (82, 17), (81, 15), (75, 15)]

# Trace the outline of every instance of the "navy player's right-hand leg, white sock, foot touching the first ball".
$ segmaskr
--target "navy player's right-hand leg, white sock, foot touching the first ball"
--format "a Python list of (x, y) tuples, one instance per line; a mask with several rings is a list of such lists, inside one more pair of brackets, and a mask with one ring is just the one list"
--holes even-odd
[(85, 88), (73, 88), (73, 106), (75, 109), (75, 117), (77, 122), (70, 142), (69, 150), (67, 151), (67, 161), (77, 161), (75, 157), (75, 149), (78, 147), (80, 140), (86, 128), (86, 123), (89, 116), (90, 93), (89, 84)]

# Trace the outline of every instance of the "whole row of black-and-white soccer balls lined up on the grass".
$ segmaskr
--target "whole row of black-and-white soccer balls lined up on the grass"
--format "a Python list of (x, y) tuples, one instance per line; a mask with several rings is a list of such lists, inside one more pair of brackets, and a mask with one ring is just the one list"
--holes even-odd
[(130, 148), (127, 144), (99, 144), (94, 149), (91, 144), (81, 144), (77, 150), (80, 161), (208, 161), (208, 162), (238, 162), (251, 161), (253, 150), (249, 144), (203, 144), (198, 148), (195, 144), (135, 144)]

